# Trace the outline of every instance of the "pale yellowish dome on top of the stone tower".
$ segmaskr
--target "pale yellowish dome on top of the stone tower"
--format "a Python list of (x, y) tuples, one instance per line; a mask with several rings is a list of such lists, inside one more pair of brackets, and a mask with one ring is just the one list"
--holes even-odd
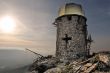
[(81, 5), (75, 3), (67, 3), (59, 9), (59, 16), (71, 14), (84, 16), (84, 11)]

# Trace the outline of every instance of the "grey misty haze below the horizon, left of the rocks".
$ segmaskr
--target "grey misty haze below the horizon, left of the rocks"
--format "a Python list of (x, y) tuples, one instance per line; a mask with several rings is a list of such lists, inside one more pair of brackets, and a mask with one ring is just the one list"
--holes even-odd
[(25, 73), (37, 56), (26, 50), (0, 49), (0, 73)]

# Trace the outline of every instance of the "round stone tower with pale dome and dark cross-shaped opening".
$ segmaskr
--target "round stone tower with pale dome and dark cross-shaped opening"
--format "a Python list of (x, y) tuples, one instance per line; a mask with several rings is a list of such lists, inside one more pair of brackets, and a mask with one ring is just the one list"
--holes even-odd
[(73, 60), (87, 56), (87, 25), (81, 5), (68, 3), (59, 9), (56, 57)]

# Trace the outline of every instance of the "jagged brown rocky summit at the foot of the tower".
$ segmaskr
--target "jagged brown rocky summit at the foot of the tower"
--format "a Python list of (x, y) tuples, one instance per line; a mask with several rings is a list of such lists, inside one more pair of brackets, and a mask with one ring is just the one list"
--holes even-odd
[(89, 58), (75, 61), (57, 59), (52, 56), (36, 60), (30, 73), (110, 73), (110, 52), (94, 53)]

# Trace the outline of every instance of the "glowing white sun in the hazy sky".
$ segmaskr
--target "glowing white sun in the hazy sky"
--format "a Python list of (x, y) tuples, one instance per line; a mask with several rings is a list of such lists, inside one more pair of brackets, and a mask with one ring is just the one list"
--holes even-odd
[(0, 20), (0, 30), (4, 33), (14, 32), (15, 27), (15, 20), (11, 16), (5, 16)]

